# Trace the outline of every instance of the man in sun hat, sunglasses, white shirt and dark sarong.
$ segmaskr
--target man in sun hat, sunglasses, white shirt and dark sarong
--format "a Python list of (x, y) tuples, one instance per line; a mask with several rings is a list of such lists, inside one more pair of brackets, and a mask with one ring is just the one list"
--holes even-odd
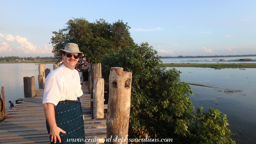
[(79, 74), (75, 70), (78, 58), (83, 53), (77, 44), (67, 43), (58, 54), (62, 55), (63, 64), (45, 79), (43, 106), (51, 143), (64, 144), (68, 138), (85, 139), (79, 98), (83, 92)]

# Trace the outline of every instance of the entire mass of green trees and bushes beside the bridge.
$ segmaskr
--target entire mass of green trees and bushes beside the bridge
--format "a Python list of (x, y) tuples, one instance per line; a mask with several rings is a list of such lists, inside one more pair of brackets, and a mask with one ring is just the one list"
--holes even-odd
[(133, 73), (129, 138), (169, 138), (178, 144), (235, 143), (229, 138), (226, 115), (213, 109), (201, 114), (202, 108), (197, 117), (192, 114), (192, 90), (180, 82), (181, 72), (165, 70), (148, 43), (134, 44), (127, 23), (109, 24), (103, 19), (90, 23), (80, 18), (70, 19), (66, 25), (51, 38), (56, 58), (66, 43), (77, 43), (91, 63), (101, 62), (105, 88), (109, 87), (110, 67)]

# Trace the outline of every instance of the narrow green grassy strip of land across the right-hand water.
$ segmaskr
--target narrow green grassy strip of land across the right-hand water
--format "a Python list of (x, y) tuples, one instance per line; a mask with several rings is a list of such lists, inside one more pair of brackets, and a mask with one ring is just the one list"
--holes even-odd
[(162, 64), (165, 67), (209, 67), (214, 69), (223, 68), (256, 68), (256, 63), (240, 63), (240, 64), (190, 64), (190, 63), (166, 63)]

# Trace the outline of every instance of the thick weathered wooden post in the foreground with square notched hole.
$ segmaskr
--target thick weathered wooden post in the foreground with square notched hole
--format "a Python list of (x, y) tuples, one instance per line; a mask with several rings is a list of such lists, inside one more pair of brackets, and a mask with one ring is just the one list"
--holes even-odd
[[(110, 69), (106, 120), (107, 139), (127, 139), (131, 107), (131, 76), (131, 72), (123, 72), (122, 67)], [(107, 144), (120, 144), (120, 142), (112, 141)]]

